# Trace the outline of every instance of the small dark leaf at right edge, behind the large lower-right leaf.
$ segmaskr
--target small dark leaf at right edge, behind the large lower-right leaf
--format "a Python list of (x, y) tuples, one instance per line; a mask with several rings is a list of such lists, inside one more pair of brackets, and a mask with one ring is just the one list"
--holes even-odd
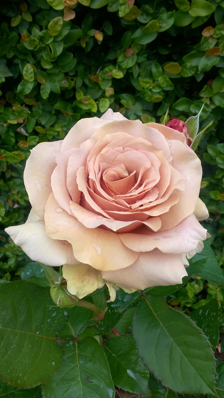
[(219, 338), (219, 323), (222, 313), (216, 298), (212, 298), (208, 304), (202, 305), (191, 313), (191, 319), (203, 330), (210, 341), (213, 350), (216, 349)]

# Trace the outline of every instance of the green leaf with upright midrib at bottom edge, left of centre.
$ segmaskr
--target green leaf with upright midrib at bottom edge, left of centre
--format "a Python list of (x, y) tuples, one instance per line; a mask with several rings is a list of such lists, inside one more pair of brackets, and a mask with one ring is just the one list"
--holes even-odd
[(115, 390), (107, 359), (100, 344), (91, 337), (64, 345), (58, 372), (43, 385), (44, 398), (114, 398)]

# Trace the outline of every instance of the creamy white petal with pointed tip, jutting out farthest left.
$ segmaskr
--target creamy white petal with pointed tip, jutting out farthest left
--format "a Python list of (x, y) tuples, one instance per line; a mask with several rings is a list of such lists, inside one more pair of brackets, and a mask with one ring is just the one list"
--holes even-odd
[(5, 231), (33, 261), (55, 267), (64, 264), (69, 257), (72, 264), (78, 263), (68, 242), (53, 240), (47, 236), (44, 221), (33, 209), (25, 224), (9, 226)]

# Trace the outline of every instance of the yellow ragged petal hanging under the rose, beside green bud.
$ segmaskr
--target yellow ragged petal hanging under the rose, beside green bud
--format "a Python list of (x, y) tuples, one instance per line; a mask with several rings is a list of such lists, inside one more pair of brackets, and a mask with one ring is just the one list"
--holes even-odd
[(68, 291), (78, 298), (90, 295), (96, 289), (103, 287), (105, 283), (101, 271), (97, 271), (88, 264), (64, 264), (62, 274), (67, 281)]

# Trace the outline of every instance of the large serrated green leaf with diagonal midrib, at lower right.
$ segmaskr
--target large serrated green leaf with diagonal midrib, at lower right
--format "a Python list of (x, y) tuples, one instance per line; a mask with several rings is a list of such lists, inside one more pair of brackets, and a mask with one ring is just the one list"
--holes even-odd
[(134, 314), (140, 357), (162, 384), (180, 394), (215, 395), (214, 356), (200, 329), (160, 297), (144, 298)]

